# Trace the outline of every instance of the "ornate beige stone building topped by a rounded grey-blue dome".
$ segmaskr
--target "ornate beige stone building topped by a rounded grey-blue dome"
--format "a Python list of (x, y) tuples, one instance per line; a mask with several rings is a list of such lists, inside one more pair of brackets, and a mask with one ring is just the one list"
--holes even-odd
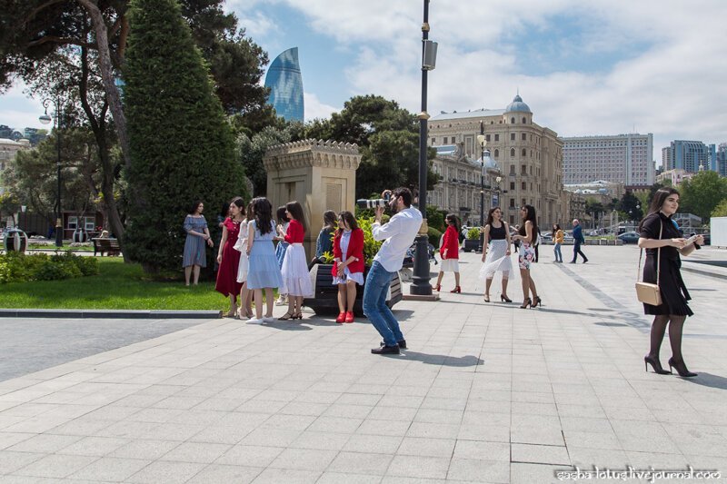
[[(482, 169), (482, 148), (477, 143), (481, 125), (493, 163), (486, 167), (487, 173), (501, 173), (501, 182), (489, 183), (490, 188), (485, 189), (485, 213), (497, 202), (504, 220), (518, 224), (520, 207), (530, 204), (543, 227), (569, 220), (569, 201), (563, 193), (563, 143), (553, 130), (533, 123), (533, 111), (520, 94), (504, 109), (441, 112), (433, 116), (429, 120), (428, 144), (438, 153), (456, 147), (461, 157)], [(430, 192), (429, 200), (442, 210), (467, 212), (463, 220), (479, 223), (480, 184), (476, 176), (476, 186), (470, 190), (470, 185), (451, 182), (462, 179), (460, 164), (438, 155), (434, 165), (435, 171), (441, 171), (443, 182)]]

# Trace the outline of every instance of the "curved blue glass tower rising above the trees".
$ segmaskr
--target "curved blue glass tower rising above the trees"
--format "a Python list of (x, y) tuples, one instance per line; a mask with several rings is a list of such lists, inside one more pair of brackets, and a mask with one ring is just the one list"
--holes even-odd
[(275, 57), (265, 75), (265, 87), (270, 88), (268, 102), (275, 112), (287, 121), (304, 122), (303, 75), (298, 63), (298, 47)]

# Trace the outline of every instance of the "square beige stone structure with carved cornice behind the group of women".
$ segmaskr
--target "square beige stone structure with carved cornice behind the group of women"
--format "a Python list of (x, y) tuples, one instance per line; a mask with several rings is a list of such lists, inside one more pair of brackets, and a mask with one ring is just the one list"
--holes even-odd
[(263, 158), (267, 172), (267, 198), (273, 210), (287, 202), (303, 205), (308, 231), (305, 252), (315, 255), (315, 240), (324, 224), (324, 212), (355, 213), (358, 146), (334, 141), (304, 140), (268, 148)]

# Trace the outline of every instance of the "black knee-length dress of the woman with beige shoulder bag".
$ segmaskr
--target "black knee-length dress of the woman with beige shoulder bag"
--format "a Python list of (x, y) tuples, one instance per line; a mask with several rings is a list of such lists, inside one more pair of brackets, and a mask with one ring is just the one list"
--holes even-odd
[[(682, 234), (662, 212), (650, 213), (643, 219), (640, 236), (645, 239), (659, 239), (659, 231), (662, 230), (663, 239), (681, 238)], [(682, 260), (679, 258), (679, 251), (675, 247), (662, 247), (661, 274), (659, 275), (659, 289), (662, 292), (662, 304), (652, 306), (643, 305), (644, 314), (664, 315), (674, 314), (677, 316), (692, 316), (687, 301), (692, 298), (682, 280)], [(656, 261), (657, 249), (646, 249), (646, 262), (643, 266), (643, 282), (656, 283)]]

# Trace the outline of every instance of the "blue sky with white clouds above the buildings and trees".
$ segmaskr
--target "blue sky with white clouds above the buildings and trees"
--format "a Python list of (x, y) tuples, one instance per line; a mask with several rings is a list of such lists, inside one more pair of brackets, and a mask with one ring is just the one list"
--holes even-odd
[[(297, 46), (305, 118), (354, 95), (421, 110), (423, 0), (227, 0), (272, 62)], [(502, 109), (518, 92), (560, 136), (653, 133), (727, 142), (724, 0), (431, 0), (428, 112)], [(263, 79), (264, 82), (264, 79)], [(40, 127), (22, 85), (0, 124)]]

